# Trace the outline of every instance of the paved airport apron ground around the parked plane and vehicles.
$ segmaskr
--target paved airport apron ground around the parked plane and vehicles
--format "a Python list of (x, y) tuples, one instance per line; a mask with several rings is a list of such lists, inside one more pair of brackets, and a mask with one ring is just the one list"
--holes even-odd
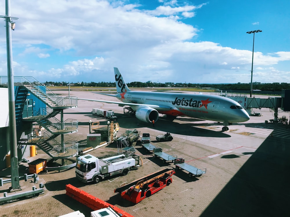
[[(55, 93), (68, 95), (68, 91)], [(70, 91), (70, 95), (86, 99), (116, 100), (85, 91)], [(79, 100), (77, 108), (64, 111), (64, 119), (73, 118), (79, 121), (78, 132), (65, 135), (64, 141), (76, 140), (85, 144), (90, 120), (106, 125), (106, 119), (92, 115), (93, 108), (113, 110), (119, 117), (123, 114), (123, 108), (116, 104)], [(114, 193), (114, 189), (122, 183), (130, 183), (161, 169), (175, 168), (172, 163), (164, 164), (161, 159), (154, 158), (137, 141), (134, 144), (136, 154), (144, 162), (138, 170), (130, 171), (126, 176), (113, 176), (98, 184), (79, 182), (75, 178), (74, 168), (61, 172), (41, 172), (38, 174), (38, 183), (33, 183), (30, 179), (25, 183), (20, 181), (20, 185), (24, 190), (24, 187), (38, 188), (39, 183), (43, 183), (44, 194), (2, 204), (0, 216), (57, 217), (77, 210), (90, 216), (93, 210), (65, 194), (66, 184), (78, 187), (135, 217), (289, 216), (290, 129), (283, 123), (265, 123), (265, 120), (273, 119), (273, 113), (268, 108), (257, 109), (256, 112), (260, 112), (262, 116), (251, 116), (248, 122), (230, 125), (226, 132), (222, 132), (220, 123), (191, 117), (177, 117), (170, 122), (160, 116), (155, 127), (138, 121), (136, 117), (119, 118), (118, 136), (125, 133), (126, 129), (137, 129), (141, 134), (150, 133), (152, 144), (162, 147), (168, 154), (185, 158), (190, 165), (206, 168), (206, 174), (189, 178), (188, 172), (177, 171), (171, 185), (140, 203), (124, 201), (119, 194)], [(282, 115), (289, 118), (288, 112), (281, 111), (279, 117)], [(155, 137), (166, 132), (173, 135), (173, 140), (157, 142)], [(117, 152), (116, 143), (89, 153), (101, 156), (113, 152)], [(37, 153), (35, 157), (28, 159), (48, 159), (41, 150), (37, 149)], [(9, 168), (2, 170), (0, 176), (8, 178), (9, 172)], [(25, 173), (28, 173), (28, 163), (21, 163), (19, 176)], [(0, 196), (10, 186), (8, 183), (0, 187)]]

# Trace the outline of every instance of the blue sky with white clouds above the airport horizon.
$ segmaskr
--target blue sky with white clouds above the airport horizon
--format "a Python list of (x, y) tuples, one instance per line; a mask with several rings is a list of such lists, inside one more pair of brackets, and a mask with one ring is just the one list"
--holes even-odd
[[(11, 0), (14, 76), (40, 82), (290, 83), (290, 1)], [(0, 1), (5, 15), (5, 1)], [(0, 19), (0, 76), (7, 76)]]

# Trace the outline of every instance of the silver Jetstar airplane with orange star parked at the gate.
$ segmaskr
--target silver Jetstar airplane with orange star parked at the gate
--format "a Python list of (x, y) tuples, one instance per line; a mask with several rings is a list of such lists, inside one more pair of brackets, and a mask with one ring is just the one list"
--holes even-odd
[(189, 116), (198, 119), (222, 122), (222, 131), (229, 130), (229, 123), (245, 122), (250, 119), (248, 113), (238, 102), (232, 99), (206, 94), (166, 93), (131, 91), (118, 68), (114, 67), (117, 94), (105, 94), (117, 97), (121, 102), (89, 100), (130, 106), (140, 121), (152, 123), (158, 120), (159, 113), (167, 116)]

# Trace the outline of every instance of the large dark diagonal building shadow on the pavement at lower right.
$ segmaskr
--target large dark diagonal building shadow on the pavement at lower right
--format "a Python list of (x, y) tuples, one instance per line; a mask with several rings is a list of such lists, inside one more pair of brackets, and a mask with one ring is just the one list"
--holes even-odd
[[(289, 216), (289, 140), (268, 137), (201, 214)], [(209, 186), (210, 187), (210, 186)]]

